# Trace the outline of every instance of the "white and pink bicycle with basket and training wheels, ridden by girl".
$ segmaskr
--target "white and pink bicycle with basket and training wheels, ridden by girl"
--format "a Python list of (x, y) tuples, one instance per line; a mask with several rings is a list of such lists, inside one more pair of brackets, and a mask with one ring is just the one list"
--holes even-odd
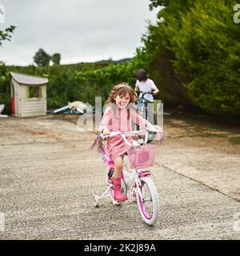
[[(164, 136), (163, 131), (159, 126), (154, 126), (154, 132), (158, 131), (162, 138)], [(158, 130), (156, 130), (156, 128)], [(136, 135), (145, 135), (145, 138), (140, 138), (138, 141), (130, 143), (126, 138)], [(127, 151), (127, 155), (130, 161), (131, 171), (128, 170), (125, 165), (122, 170), (121, 189), (123, 194), (127, 194), (129, 191), (133, 195), (134, 199), (138, 203), (138, 210), (142, 216), (142, 219), (148, 225), (154, 225), (158, 219), (158, 192), (153, 180), (150, 178), (150, 171), (146, 170), (146, 167), (154, 166), (154, 155), (156, 153), (157, 146), (146, 144), (148, 141), (148, 130), (137, 130), (128, 132), (111, 132), (107, 136), (100, 137), (102, 139), (122, 136), (124, 142), (131, 146)], [(161, 137), (160, 137), (161, 138)], [(105, 154), (102, 154), (102, 162), (108, 164), (107, 168), (107, 189), (101, 195), (94, 195), (94, 206), (99, 206), (99, 199), (110, 195), (110, 198), (114, 204), (120, 205), (122, 202), (116, 202), (114, 200), (114, 189), (111, 182), (111, 177), (114, 173), (114, 162), (110, 159), (105, 147)]]

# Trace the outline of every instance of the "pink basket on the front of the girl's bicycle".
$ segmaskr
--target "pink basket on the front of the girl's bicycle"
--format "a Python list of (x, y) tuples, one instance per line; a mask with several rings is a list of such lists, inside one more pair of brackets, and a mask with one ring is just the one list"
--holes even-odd
[(156, 145), (139, 145), (130, 147), (130, 149), (127, 150), (127, 155), (131, 168), (135, 169), (154, 166), (156, 151)]

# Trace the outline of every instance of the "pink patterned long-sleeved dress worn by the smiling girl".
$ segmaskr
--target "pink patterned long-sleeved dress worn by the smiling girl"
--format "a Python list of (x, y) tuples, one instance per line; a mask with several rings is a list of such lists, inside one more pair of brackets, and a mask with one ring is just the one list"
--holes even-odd
[[(128, 131), (132, 130), (132, 121), (142, 127), (142, 130), (146, 129), (146, 126), (151, 126), (150, 122), (147, 122), (136, 111), (130, 111), (130, 118), (128, 118), (128, 110), (118, 109), (116, 110), (116, 116), (114, 116), (114, 110), (111, 106), (108, 106), (103, 114), (102, 122), (99, 126), (99, 131), (107, 128), (110, 131)], [(129, 142), (132, 142), (132, 138), (127, 138)], [(130, 146), (126, 145), (121, 136), (107, 138), (107, 150), (112, 159), (117, 158), (124, 154)]]

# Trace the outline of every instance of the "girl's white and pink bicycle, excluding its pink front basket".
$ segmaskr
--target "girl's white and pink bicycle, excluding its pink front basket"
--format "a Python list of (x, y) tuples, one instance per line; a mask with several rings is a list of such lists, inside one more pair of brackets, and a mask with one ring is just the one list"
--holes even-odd
[[(162, 130), (158, 130), (158, 131), (162, 132)], [(122, 136), (122, 139), (124, 140), (124, 142), (126, 142), (127, 145), (133, 146), (133, 144), (128, 142), (126, 137), (139, 135), (139, 134), (145, 134), (145, 139), (144, 140), (142, 139), (141, 143), (143, 142), (146, 144), (147, 138), (148, 138), (148, 130), (129, 131), (125, 133), (111, 132), (109, 135), (106, 135), (106, 136), (100, 135), (100, 137), (104, 139), (104, 138), (109, 138), (113, 136)], [(138, 142), (140, 142), (139, 139), (138, 139)], [(110, 164), (110, 162), (111, 162), (111, 159), (108, 162), (107, 189), (100, 197), (94, 194), (94, 206), (98, 206), (98, 200), (100, 198), (106, 197), (108, 195), (110, 195), (110, 198), (114, 204), (117, 204), (117, 205), (122, 204), (122, 202), (115, 201), (115, 198), (114, 198), (114, 189), (111, 181), (112, 174), (114, 173), (114, 167)], [(121, 177), (123, 193), (127, 194), (128, 190), (133, 189), (133, 195), (135, 200), (138, 203), (138, 209), (140, 211), (142, 219), (144, 220), (144, 222), (146, 222), (146, 224), (154, 225), (154, 223), (158, 219), (159, 203), (158, 203), (158, 192), (156, 190), (156, 187), (154, 186), (154, 182), (150, 178), (150, 171), (145, 169), (140, 169), (140, 168), (131, 169), (131, 170), (132, 172), (128, 171), (126, 166), (123, 167), (122, 177)], [(148, 196), (150, 196), (149, 199), (148, 199)], [(149, 209), (149, 202), (150, 202), (150, 209)]]

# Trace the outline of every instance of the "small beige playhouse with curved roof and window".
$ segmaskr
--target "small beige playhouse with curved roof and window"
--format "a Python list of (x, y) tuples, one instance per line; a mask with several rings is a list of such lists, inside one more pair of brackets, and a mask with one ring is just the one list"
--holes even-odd
[(46, 114), (47, 78), (28, 74), (11, 75), (11, 108), (16, 117), (34, 117)]

